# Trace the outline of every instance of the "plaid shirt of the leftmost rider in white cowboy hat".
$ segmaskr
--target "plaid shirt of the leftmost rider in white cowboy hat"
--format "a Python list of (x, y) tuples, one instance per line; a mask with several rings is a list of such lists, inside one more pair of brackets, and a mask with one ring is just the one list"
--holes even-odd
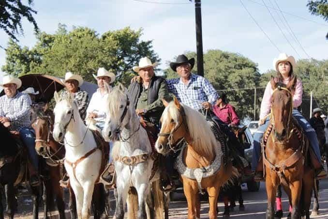
[(30, 127), (31, 98), (29, 94), (17, 91), (14, 97), (6, 94), (0, 97), (0, 116), (8, 117), (10, 129), (18, 131), (21, 127)]

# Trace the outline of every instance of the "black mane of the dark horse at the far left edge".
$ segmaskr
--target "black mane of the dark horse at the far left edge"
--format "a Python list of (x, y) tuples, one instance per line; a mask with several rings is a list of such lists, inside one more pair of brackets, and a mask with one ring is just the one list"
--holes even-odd
[(0, 123), (0, 138), (2, 142), (0, 147), (0, 157), (12, 156), (18, 153), (18, 146), (9, 129)]

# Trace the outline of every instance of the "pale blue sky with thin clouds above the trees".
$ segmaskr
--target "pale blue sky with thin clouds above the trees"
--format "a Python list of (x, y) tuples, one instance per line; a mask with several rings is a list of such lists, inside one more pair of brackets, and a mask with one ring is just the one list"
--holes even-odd
[[(145, 1), (189, 2), (189, 0)], [(282, 11), (317, 22), (284, 14), (306, 53), (311, 58), (328, 59), (328, 40), (325, 39), (328, 22), (308, 12), (307, 0), (264, 0), (270, 7), (275, 5), (275, 1)], [(270, 9), (299, 56), (274, 23), (268, 9), (260, 5), (263, 4), (262, 0), (242, 0), (242, 2), (280, 51), (294, 55), (296, 59), (307, 58), (287, 31), (289, 29), (283, 25), (280, 13), (278, 16), (276, 11)], [(154, 4), (138, 0), (34, 0), (33, 8), (38, 11), (35, 19), (39, 28), (48, 33), (54, 33), (58, 23), (66, 24), (69, 29), (73, 26), (86, 26), (100, 34), (126, 26), (134, 30), (143, 28), (142, 39), (153, 40), (154, 50), (162, 59), (161, 68), (166, 68), (166, 62), (172, 61), (174, 56), (184, 51), (196, 50), (194, 3)], [(221, 49), (239, 53), (258, 63), (261, 73), (272, 68), (272, 60), (279, 52), (256, 26), (240, 0), (202, 0), (202, 23), (204, 52), (208, 49)], [(23, 29), (25, 34), (19, 37), (19, 43), (22, 46), (32, 47), (36, 42), (32, 25), (24, 21)], [(4, 31), (0, 31), (0, 39), (0, 45), (6, 46), (8, 36)], [(0, 49), (0, 66), (4, 63), (5, 52)]]

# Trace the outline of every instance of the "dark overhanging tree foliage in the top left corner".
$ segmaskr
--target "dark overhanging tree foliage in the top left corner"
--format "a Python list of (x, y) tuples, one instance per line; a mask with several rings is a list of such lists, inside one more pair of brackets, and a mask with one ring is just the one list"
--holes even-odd
[(22, 17), (33, 24), (34, 31), (39, 30), (33, 17), (37, 12), (30, 7), (33, 0), (28, 0), (27, 3), (25, 5), (21, 0), (0, 0), (0, 28), (15, 41), (17, 34), (23, 34)]

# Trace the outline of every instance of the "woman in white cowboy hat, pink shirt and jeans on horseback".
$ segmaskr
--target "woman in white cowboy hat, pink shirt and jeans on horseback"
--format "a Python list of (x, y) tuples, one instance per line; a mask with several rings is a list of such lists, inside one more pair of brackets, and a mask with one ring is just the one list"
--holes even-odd
[[(315, 131), (313, 127), (306, 121), (306, 119), (301, 115), (301, 113), (297, 109), (302, 103), (303, 87), (300, 79), (296, 78), (296, 76), (294, 76), (293, 73), (293, 68), (296, 67), (296, 61), (293, 56), (288, 56), (285, 53), (281, 53), (279, 54), (277, 59), (273, 60), (273, 66), (277, 71), (277, 77), (275, 78), (276, 82), (281, 81), (284, 84), (288, 84), (290, 81), (295, 81), (292, 91), (293, 107), (294, 107), (292, 115), (295, 119), (298, 120), (298, 124), (303, 128), (306, 137), (310, 141), (310, 145), (315, 154), (315, 158), (313, 158), (314, 156), (310, 156), (310, 157), (312, 157), (311, 161), (315, 169), (316, 177), (324, 178), (326, 177), (326, 172), (321, 164), (321, 155), (320, 155), (318, 140), (316, 138)], [(269, 81), (262, 98), (260, 121), (259, 121), (260, 126), (254, 134), (252, 170), (253, 171), (257, 170), (254, 176), (254, 180), (256, 181), (264, 180), (263, 170), (261, 170), (261, 167), (263, 167), (263, 165), (262, 164), (258, 165), (258, 161), (260, 158), (260, 151), (261, 151), (260, 141), (263, 137), (264, 132), (267, 130), (269, 124), (268, 114), (270, 113), (270, 108), (271, 108), (272, 93), (273, 93), (273, 89)]]

